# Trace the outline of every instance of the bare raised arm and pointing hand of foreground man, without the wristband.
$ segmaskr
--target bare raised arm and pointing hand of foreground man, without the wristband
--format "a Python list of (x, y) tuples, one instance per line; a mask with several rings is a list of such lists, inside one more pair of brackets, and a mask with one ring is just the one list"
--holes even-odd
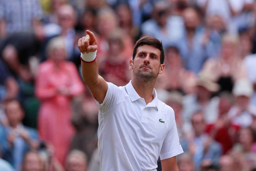
[[(91, 31), (86, 30), (86, 33), (88, 35), (78, 40), (78, 48), (81, 53), (92, 56), (97, 50), (97, 40)], [(89, 87), (93, 97), (101, 104), (107, 93), (107, 82), (99, 75), (97, 59), (82, 60), (81, 66), (84, 83)]]

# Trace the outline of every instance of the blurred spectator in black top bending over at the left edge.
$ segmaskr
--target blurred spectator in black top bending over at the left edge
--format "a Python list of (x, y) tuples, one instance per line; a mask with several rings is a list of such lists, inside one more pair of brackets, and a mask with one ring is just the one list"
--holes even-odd
[(41, 41), (33, 33), (15, 33), (0, 46), (0, 56), (10, 71), (24, 81), (33, 80), (29, 61), (39, 52)]

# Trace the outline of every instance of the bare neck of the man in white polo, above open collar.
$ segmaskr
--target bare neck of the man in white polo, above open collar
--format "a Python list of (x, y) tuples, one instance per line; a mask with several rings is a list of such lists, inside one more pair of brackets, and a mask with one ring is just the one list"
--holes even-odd
[(132, 77), (132, 85), (135, 91), (140, 97), (145, 99), (146, 104), (153, 100), (152, 91), (154, 89), (155, 81), (156, 80), (143, 81), (137, 77)]

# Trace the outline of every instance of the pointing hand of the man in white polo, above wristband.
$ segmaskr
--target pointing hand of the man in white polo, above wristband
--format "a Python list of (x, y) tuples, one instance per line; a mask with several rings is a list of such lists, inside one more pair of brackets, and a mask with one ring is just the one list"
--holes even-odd
[(89, 53), (89, 52), (94, 52), (97, 50), (97, 40), (93, 32), (86, 30), (86, 35), (85, 37), (79, 38), (78, 40), (78, 48), (80, 52), (82, 53)]

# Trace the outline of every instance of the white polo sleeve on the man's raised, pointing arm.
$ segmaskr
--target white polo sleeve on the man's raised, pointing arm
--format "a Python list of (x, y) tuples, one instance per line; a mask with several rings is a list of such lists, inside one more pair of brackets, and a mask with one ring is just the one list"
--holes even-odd
[(122, 90), (118, 86), (110, 82), (107, 82), (107, 86), (107, 94), (102, 104), (99, 104), (99, 102), (95, 100), (96, 103), (99, 105), (99, 111), (101, 113), (105, 113), (114, 106), (116, 106), (122, 101), (124, 97)]

